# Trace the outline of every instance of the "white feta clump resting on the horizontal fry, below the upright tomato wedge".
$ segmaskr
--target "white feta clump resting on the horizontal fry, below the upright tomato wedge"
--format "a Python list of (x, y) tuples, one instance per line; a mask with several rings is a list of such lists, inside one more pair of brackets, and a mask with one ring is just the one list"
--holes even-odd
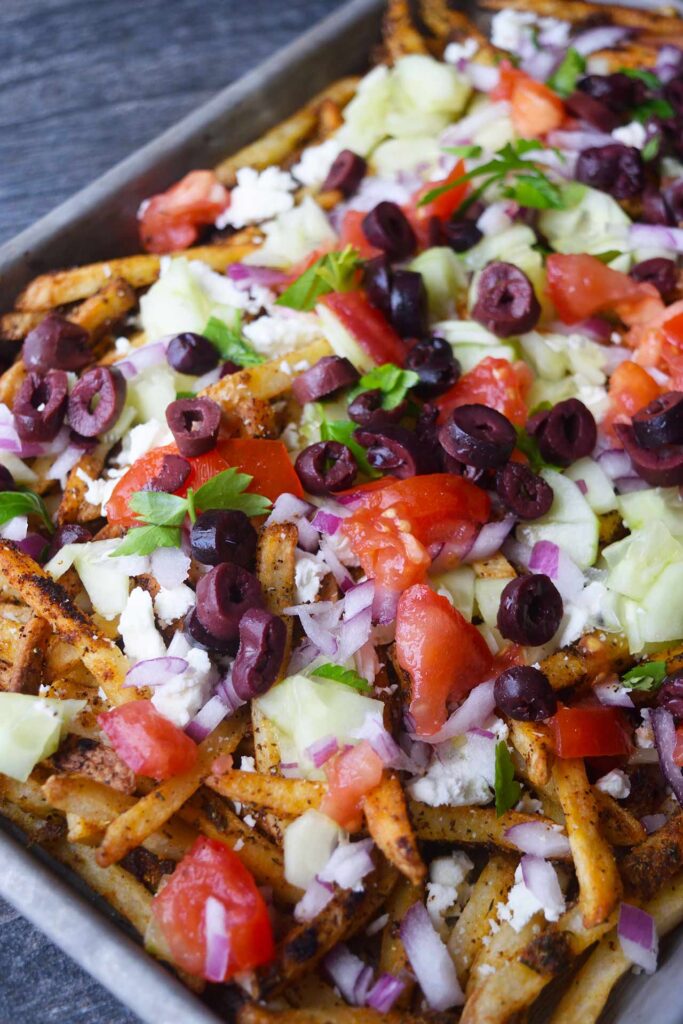
[(468, 733), (440, 743), (427, 773), (409, 784), (411, 796), (430, 807), (487, 804), (493, 797), (496, 742)]

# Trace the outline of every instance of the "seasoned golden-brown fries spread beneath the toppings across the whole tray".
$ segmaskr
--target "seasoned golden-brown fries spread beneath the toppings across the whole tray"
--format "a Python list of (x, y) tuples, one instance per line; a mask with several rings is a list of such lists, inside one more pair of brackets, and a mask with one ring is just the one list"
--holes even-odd
[[(445, 0), (420, 0), (416, 12), (407, 0), (389, 0), (380, 59), (391, 63), (405, 54), (440, 56), (446, 44), (475, 39), (477, 59), (484, 65), (496, 60), (480, 30)], [(483, 6), (530, 10), (579, 24), (602, 13), (580, 0), (487, 0)], [(614, 25), (631, 28), (633, 35), (618, 51), (599, 54), (608, 69), (649, 67), (665, 42), (683, 39), (677, 17), (625, 8), (610, 8), (609, 17)], [(355, 79), (334, 83), (262, 139), (224, 160), (216, 168), (220, 181), (232, 186), (243, 167), (291, 166), (305, 146), (323, 142), (339, 127), (356, 85)], [(342, 198), (308, 191), (325, 210)], [(248, 227), (209, 239), (182, 255), (222, 272), (257, 251), (261, 241), (258, 228)], [(87, 331), (97, 360), (111, 365), (117, 337), (128, 336), (133, 348), (144, 344), (134, 316), (160, 265), (159, 256), (139, 254), (42, 274), (17, 297), (15, 308), (0, 317), (0, 338), (16, 343), (18, 351), (43, 317), (59, 311)], [(290, 357), (289, 367), (283, 367), (287, 359), (282, 357), (264, 361), (223, 377), (205, 393), (238, 425), (241, 436), (276, 437), (300, 372), (296, 365), (311, 366), (331, 353), (326, 340), (313, 341), (297, 350), (296, 358)], [(26, 373), (20, 358), (5, 371), (0, 401), (11, 407)], [(30, 487), (51, 503), (59, 525), (95, 524), (96, 540), (120, 536), (116, 526), (102, 525), (99, 510), (85, 498), (87, 479), (100, 475), (111, 450), (102, 441), (83, 455), (60, 493), (49, 479), (46, 460), (33, 460)], [(601, 543), (621, 531), (618, 516), (605, 516)], [(268, 610), (287, 624), (288, 653), (293, 620), (284, 612), (295, 603), (296, 546), (292, 523), (261, 528), (257, 575)], [(475, 571), (482, 579), (515, 575), (502, 555), (476, 563)], [(297, 923), (293, 908), (303, 893), (285, 877), (283, 838), (291, 821), (319, 807), (325, 785), (281, 773), (271, 723), (256, 707), (243, 707), (199, 744), (191, 770), (162, 782), (136, 777), (102, 742), (96, 722), (100, 712), (139, 695), (124, 685), (129, 664), (115, 642), (112, 623), (88, 609), (73, 569), (55, 583), (8, 541), (0, 541), (0, 689), (87, 701), (59, 751), (39, 764), (26, 782), (0, 775), (0, 812), (31, 843), (77, 872), (147, 939), (154, 894), (199, 836), (238, 852), (258, 886), (271, 894), (279, 929), (274, 959), (241, 979), (239, 998), (223, 986), (225, 1013), (239, 1004), (240, 1024), (457, 1019), (463, 1024), (504, 1024), (526, 1020), (535, 1000), (559, 976), (567, 982), (547, 1018), (549, 1024), (590, 1024), (598, 1021), (612, 988), (632, 967), (616, 934), (622, 900), (650, 914), (660, 937), (683, 921), (683, 812), (676, 811), (661, 828), (646, 835), (640, 818), (652, 813), (660, 796), (650, 784), (648, 766), (642, 768), (638, 793), (634, 786), (630, 801), (617, 802), (590, 783), (583, 759), (555, 756), (546, 726), (510, 721), (517, 778), (540, 801), (541, 812), (508, 810), (497, 815), (493, 807), (428, 806), (408, 796), (402, 772), (387, 770), (362, 806), (362, 831), (374, 842), (373, 872), (360, 891), (337, 887), (319, 913)], [(154, 586), (154, 580), (147, 585)], [(326, 586), (336, 596), (334, 581)], [(387, 645), (381, 654), (383, 685), (376, 681), (376, 686), (389, 719), (396, 712), (395, 694), (410, 687), (410, 679), (393, 646)], [(682, 655), (672, 647), (657, 656), (671, 672), (679, 668)], [(623, 636), (597, 631), (549, 655), (541, 668), (562, 694), (588, 687), (598, 675), (621, 674), (635, 662)], [(240, 765), (242, 758), (253, 758), (256, 770), (224, 767)], [(519, 862), (509, 829), (528, 822), (566, 829), (570, 855), (558, 863), (569, 877), (567, 908), (555, 922), (536, 913), (520, 931), (509, 923), (492, 929), (499, 904), (506, 903), (515, 884)], [(447, 1012), (423, 1009), (400, 928), (409, 909), (424, 902), (429, 864), (444, 850), (466, 851), (475, 872), (445, 935), (465, 993), (464, 1007)], [(402, 980), (390, 1012), (348, 1006), (330, 983), (323, 962), (347, 941), (372, 959), (378, 974)], [(196, 991), (206, 987), (202, 979), (180, 974)], [(215, 1004), (220, 993), (212, 999)]]

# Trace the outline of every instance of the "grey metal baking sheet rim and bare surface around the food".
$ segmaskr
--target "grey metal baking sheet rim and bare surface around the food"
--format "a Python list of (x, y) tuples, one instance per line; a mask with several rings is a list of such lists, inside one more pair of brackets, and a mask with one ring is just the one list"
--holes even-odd
[[(648, 0), (623, 0), (656, 7)], [(683, 8), (683, 0), (673, 6)], [(255, 71), (0, 248), (0, 309), (36, 273), (137, 250), (135, 212), (186, 171), (252, 141), (329, 82), (362, 71), (379, 36), (384, 0), (352, 0)], [(75, 876), (27, 847), (0, 817), (0, 896), (43, 931), (145, 1024), (215, 1024), (219, 1018), (140, 951), (129, 930)], [(683, 1024), (677, 980), (683, 933), (664, 943), (650, 978), (630, 974), (604, 1024)], [(551, 994), (551, 993), (549, 993)], [(551, 999), (533, 1015), (548, 1019)], [(581, 1022), (577, 1022), (581, 1024)]]

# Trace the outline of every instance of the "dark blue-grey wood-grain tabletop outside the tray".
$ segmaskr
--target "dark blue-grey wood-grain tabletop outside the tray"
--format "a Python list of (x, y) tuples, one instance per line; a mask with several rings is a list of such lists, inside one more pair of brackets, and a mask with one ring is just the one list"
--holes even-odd
[[(340, 5), (0, 0), (0, 243)], [(135, 1020), (0, 901), (0, 1024)]]

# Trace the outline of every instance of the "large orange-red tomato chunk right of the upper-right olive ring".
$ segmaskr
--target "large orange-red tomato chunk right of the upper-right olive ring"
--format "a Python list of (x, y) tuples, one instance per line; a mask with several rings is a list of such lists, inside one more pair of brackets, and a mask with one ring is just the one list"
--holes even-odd
[(663, 308), (653, 285), (633, 281), (595, 256), (552, 253), (546, 270), (550, 298), (564, 324), (575, 324), (607, 309), (613, 309), (626, 323), (641, 323)]

